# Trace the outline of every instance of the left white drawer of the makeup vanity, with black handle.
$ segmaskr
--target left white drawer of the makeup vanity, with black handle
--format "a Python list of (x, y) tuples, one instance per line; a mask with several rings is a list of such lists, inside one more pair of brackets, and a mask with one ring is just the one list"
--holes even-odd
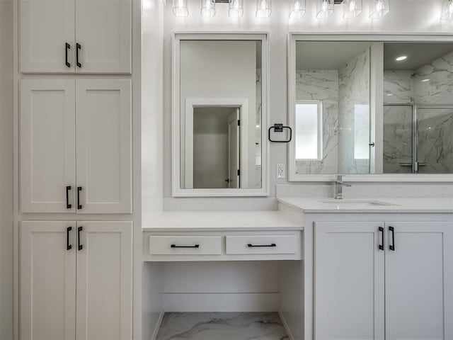
[(161, 236), (149, 237), (151, 255), (220, 255), (221, 236)]

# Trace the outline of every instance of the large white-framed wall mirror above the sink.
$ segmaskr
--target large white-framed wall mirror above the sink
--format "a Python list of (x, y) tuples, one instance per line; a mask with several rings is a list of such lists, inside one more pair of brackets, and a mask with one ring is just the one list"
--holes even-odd
[(290, 181), (453, 180), (453, 39), (289, 39)]

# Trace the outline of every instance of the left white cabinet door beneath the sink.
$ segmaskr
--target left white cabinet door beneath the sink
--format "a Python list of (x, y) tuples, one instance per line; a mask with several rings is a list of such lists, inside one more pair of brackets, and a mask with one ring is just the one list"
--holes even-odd
[(315, 223), (315, 339), (384, 339), (383, 226)]

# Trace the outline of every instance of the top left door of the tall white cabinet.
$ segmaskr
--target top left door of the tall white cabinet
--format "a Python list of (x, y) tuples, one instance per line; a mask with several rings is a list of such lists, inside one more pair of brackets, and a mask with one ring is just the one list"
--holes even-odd
[(19, 15), (21, 72), (74, 73), (75, 1), (21, 0)]

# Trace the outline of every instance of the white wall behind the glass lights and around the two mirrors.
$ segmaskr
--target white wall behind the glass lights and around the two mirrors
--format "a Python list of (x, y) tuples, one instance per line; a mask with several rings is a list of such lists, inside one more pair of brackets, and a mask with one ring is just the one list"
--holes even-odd
[[(392, 0), (391, 12), (379, 20), (368, 18), (369, 8), (355, 19), (343, 19), (341, 11), (331, 18), (315, 17), (315, 2), (307, 0), (307, 13), (300, 21), (288, 19), (289, 0), (273, 1), (270, 18), (256, 18), (256, 1), (244, 1), (243, 18), (227, 16), (227, 5), (217, 4), (214, 18), (200, 17), (200, 1), (188, 0), (190, 16), (176, 18), (171, 10), (171, 1), (164, 9), (164, 197), (171, 197), (171, 33), (175, 31), (226, 30), (270, 32), (270, 124), (287, 122), (287, 35), (303, 33), (452, 33), (453, 23), (440, 21), (439, 0)], [(336, 7), (338, 8), (338, 7)], [(275, 166), (287, 162), (287, 146), (270, 145), (270, 195), (275, 196), (275, 184), (287, 183), (275, 179)], [(304, 183), (292, 183), (304, 186)], [(373, 185), (379, 187), (379, 185)], [(411, 192), (412, 184), (408, 184)], [(433, 187), (435, 188), (435, 187)], [(453, 196), (453, 187), (452, 187)], [(167, 200), (168, 201), (168, 200)], [(170, 205), (175, 205), (169, 203)]]

